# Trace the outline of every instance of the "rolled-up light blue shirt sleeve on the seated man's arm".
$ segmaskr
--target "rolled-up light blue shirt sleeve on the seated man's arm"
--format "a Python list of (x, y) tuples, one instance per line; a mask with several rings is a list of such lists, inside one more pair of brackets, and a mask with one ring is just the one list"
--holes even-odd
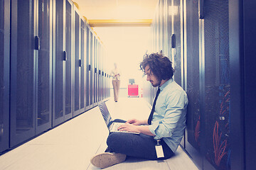
[[(186, 104), (186, 94), (182, 91), (173, 91), (173, 93), (166, 98), (165, 104), (159, 106), (159, 112), (156, 113), (156, 118), (153, 118), (152, 124), (149, 125), (149, 130), (151, 133), (156, 135), (155, 140), (159, 140), (162, 137), (171, 137), (177, 126), (178, 120), (181, 118), (183, 113), (184, 105)], [(157, 111), (157, 110), (156, 110)]]

